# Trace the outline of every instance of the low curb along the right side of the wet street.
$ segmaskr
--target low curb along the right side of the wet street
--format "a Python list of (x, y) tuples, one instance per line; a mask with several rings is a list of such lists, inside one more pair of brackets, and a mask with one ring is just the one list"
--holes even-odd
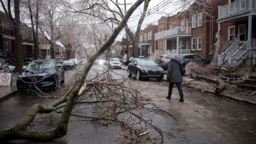
[[(186, 86), (188, 88), (195, 88), (193, 86)], [(245, 99), (240, 99), (239, 97), (232, 97), (231, 95), (226, 95), (224, 93), (216, 93), (216, 92), (213, 92), (213, 91), (209, 91), (209, 90), (204, 90), (202, 88), (196, 88), (197, 90), (202, 90), (204, 92), (208, 92), (208, 93), (212, 93), (214, 95), (218, 95), (220, 97), (225, 97), (227, 99), (232, 99), (232, 100), (235, 100), (237, 102), (243, 102), (245, 104), (250, 104), (250, 105), (253, 105), (253, 106), (256, 106), (256, 102), (253, 102), (252, 100), (245, 100)]]

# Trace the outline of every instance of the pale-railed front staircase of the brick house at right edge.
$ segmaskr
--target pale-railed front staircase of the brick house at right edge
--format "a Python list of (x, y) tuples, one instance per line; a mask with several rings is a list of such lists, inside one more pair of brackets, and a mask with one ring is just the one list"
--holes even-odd
[(223, 61), (227, 61), (226, 64), (237, 66), (254, 54), (256, 54), (256, 38), (247, 40), (243, 44), (235, 41), (223, 54), (218, 56), (218, 64), (221, 65)]

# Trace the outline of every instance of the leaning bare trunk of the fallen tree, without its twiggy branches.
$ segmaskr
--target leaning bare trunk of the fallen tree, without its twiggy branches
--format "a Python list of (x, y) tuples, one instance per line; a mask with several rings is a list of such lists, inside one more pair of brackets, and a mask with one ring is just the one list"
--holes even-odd
[[(20, 122), (18, 122), (14, 127), (10, 129), (3, 129), (0, 130), (0, 141), (10, 141), (10, 140), (34, 140), (34, 141), (47, 141), (52, 140), (56, 138), (60, 138), (61, 136), (64, 136), (67, 134), (67, 128), (68, 128), (68, 121), (72, 112), (72, 109), (74, 108), (76, 104), (76, 100), (79, 98), (79, 90), (81, 89), (81, 86), (84, 84), (84, 79), (87, 76), (89, 70), (92, 68), (95, 60), (99, 58), (99, 56), (106, 51), (111, 44), (115, 42), (116, 36), (122, 31), (125, 24), (127, 23), (127, 20), (129, 17), (131, 17), (132, 13), (140, 4), (143, 3), (143, 0), (136, 1), (127, 14), (125, 15), (122, 22), (119, 24), (119, 26), (115, 29), (114, 33), (109, 37), (108, 41), (100, 47), (99, 51), (97, 51), (95, 54), (90, 56), (88, 58), (88, 62), (86, 65), (84, 65), (83, 71), (81, 75), (79, 76), (80, 79), (74, 83), (74, 85), (68, 90), (68, 92), (65, 94), (65, 96), (51, 104), (51, 106), (40, 106), (40, 104), (35, 104), (29, 111), (29, 113), (24, 116)], [(68, 99), (67, 99), (68, 98)], [(67, 100), (67, 104), (65, 105), (65, 108), (63, 109), (63, 113), (61, 115), (61, 120), (58, 123), (58, 127), (54, 129), (49, 129), (45, 131), (28, 131), (26, 130), (26, 127), (34, 120), (37, 113), (50, 113), (51, 111), (54, 111), (54, 107), (60, 105), (62, 102), (65, 102)]]

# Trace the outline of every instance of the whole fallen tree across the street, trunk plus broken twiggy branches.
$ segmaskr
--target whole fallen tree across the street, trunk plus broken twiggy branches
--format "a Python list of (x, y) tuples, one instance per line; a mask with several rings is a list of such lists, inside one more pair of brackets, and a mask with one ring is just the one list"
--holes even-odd
[[(90, 56), (88, 58), (87, 63), (84, 65), (83, 71), (79, 75), (79, 79), (76, 80), (76, 83), (74, 83), (70, 87), (68, 92), (63, 97), (61, 97), (60, 99), (56, 100), (55, 102), (53, 102), (52, 104), (50, 104), (48, 106), (42, 106), (40, 104), (33, 105), (32, 108), (26, 114), (26, 116), (24, 116), (24, 118), (22, 118), (22, 120), (20, 120), (17, 124), (15, 124), (13, 127), (9, 128), (9, 129), (0, 130), (0, 141), (1, 142), (10, 141), (10, 140), (49, 141), (49, 140), (54, 140), (56, 138), (61, 138), (62, 136), (65, 136), (67, 134), (68, 122), (69, 122), (70, 116), (72, 115), (72, 109), (77, 104), (77, 100), (79, 100), (79, 97), (81, 96), (81, 95), (79, 95), (79, 90), (83, 86), (84, 79), (86, 79), (86, 76), (88, 75), (89, 70), (92, 68), (95, 60), (97, 60), (97, 58), (99, 58), (99, 56), (104, 51), (106, 51), (106, 49), (108, 49), (108, 47), (111, 44), (113, 44), (116, 36), (124, 28), (125, 24), (127, 23), (127, 20), (131, 16), (131, 14), (134, 12), (134, 10), (136, 10), (136, 8), (138, 8), (138, 6), (140, 6), (141, 3), (143, 3), (143, 0), (138, 0), (131, 6), (129, 11), (126, 13), (124, 19), (122, 19), (122, 22), (120, 22), (120, 24), (115, 29), (113, 34), (110, 36), (108, 41), (104, 45), (102, 45), (102, 47), (100, 47), (99, 51), (95, 52), (95, 54), (93, 54), (92, 56)], [(83, 92), (84, 93), (89, 92), (90, 90), (92, 90), (92, 88), (95, 88), (95, 85), (100, 86), (100, 84), (103, 84), (103, 83), (86, 83), (86, 88), (83, 90)], [(106, 83), (106, 84), (109, 85), (110, 83)], [(103, 84), (103, 85), (106, 86), (106, 84)], [(93, 89), (93, 92), (95, 92), (95, 89)], [(100, 93), (102, 91), (97, 90), (97, 92)], [(122, 92), (124, 92), (124, 91), (122, 91)], [(130, 93), (130, 95), (131, 95), (131, 92), (126, 92), (126, 93)], [(103, 95), (103, 94), (104, 93), (100, 93), (100, 95)], [(124, 97), (124, 99), (125, 99), (125, 97)], [(137, 104), (136, 100), (138, 100), (138, 99), (140, 99), (140, 97), (138, 97), (138, 96), (134, 97), (134, 95), (131, 95), (130, 99), (125, 99), (123, 102), (124, 102), (124, 104), (125, 103), (136, 104), (136, 106), (132, 105), (133, 109), (136, 109), (139, 107), (141, 108), (146, 105), (143, 103)], [(96, 99), (94, 103), (100, 103), (101, 102), (100, 100), (101, 99)], [(114, 101), (118, 102), (118, 100), (114, 100)], [(65, 106), (61, 106), (61, 104), (63, 104), (63, 103), (65, 103)], [(86, 103), (86, 102), (84, 102), (84, 103)], [(132, 115), (131, 118), (132, 117), (138, 118), (138, 122), (137, 122), (138, 124), (140, 124), (141, 122), (150, 124), (150, 122), (148, 122), (148, 120), (141, 118), (141, 116), (138, 115), (137, 113), (132, 113), (131, 108), (130, 109), (129, 109), (129, 107), (125, 108), (124, 106), (117, 104), (117, 103), (113, 103), (113, 104), (115, 104), (116, 108), (119, 108), (118, 113), (121, 113), (123, 111), (129, 112)], [(58, 111), (58, 109), (60, 107), (61, 108), (63, 107), (62, 111)], [(145, 108), (147, 108), (147, 107), (145, 107)], [(151, 109), (157, 110), (157, 107), (154, 106)], [(28, 129), (29, 125), (33, 122), (33, 120), (35, 119), (35, 116), (37, 114), (51, 113), (52, 111), (55, 111), (56, 113), (61, 113), (60, 121), (58, 121), (58, 124), (56, 127), (52, 128), (52, 129), (47, 129), (44, 131), (31, 131)], [(113, 111), (115, 111), (115, 110), (113, 110)], [(114, 115), (112, 115), (112, 116), (115, 116), (118, 113), (114, 113)], [(91, 118), (92, 120), (95, 120), (95, 119), (96, 120), (105, 120), (106, 117), (108, 117), (108, 116), (109, 115), (103, 116), (103, 117), (99, 117), (99, 116), (98, 117), (92, 117), (92, 116), (88, 117), (87, 116), (86, 118)], [(113, 119), (112, 121), (116, 121), (116, 120)], [(119, 122), (119, 121), (116, 121), (116, 122)], [(123, 122), (120, 122), (120, 123), (122, 123), (122, 125), (124, 125), (124, 127), (128, 127), (128, 129), (131, 128), (131, 127), (129, 127), (130, 125), (126, 125)], [(152, 127), (154, 127), (154, 129), (156, 129), (156, 131), (159, 132), (159, 134), (161, 136), (161, 140), (159, 141), (159, 143), (163, 143), (162, 133), (159, 130), (159, 128), (155, 127), (154, 125), (152, 125)], [(140, 130), (130, 129), (130, 131), (132, 131), (132, 136), (133, 136), (131, 138), (131, 140), (136, 140), (135, 143), (140, 141)], [(136, 137), (136, 136), (139, 136), (139, 137)]]

